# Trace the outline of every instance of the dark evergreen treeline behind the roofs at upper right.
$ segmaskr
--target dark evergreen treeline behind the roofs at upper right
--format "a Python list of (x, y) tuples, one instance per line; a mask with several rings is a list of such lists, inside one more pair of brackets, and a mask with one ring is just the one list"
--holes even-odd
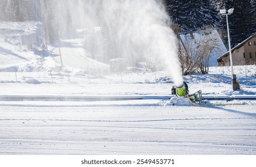
[(179, 29), (176, 32), (189, 32), (214, 27), (227, 32), (225, 16), (220, 9), (234, 8), (228, 16), (231, 44), (239, 44), (256, 33), (256, 0), (163, 0), (168, 14)]

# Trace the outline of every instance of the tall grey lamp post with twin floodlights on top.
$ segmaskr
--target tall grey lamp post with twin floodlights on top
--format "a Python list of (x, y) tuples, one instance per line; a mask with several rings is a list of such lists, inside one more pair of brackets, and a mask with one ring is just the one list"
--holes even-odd
[(232, 75), (232, 85), (233, 85), (233, 90), (236, 91), (237, 89), (240, 89), (239, 83), (236, 81), (236, 75), (234, 75), (234, 70), (233, 70), (233, 60), (232, 60), (232, 52), (231, 52), (231, 44), (230, 44), (230, 30), (228, 27), (228, 15), (232, 14), (234, 11), (234, 8), (227, 10), (220, 10), (221, 15), (225, 15), (227, 18), (227, 32), (228, 32), (228, 48), (230, 52), (230, 66), (231, 66), (231, 75)]

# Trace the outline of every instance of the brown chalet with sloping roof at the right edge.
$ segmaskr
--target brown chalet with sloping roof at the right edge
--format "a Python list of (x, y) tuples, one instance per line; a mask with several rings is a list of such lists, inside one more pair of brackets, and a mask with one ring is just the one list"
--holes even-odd
[[(233, 65), (256, 64), (256, 33), (231, 49)], [(219, 66), (230, 65), (229, 51), (218, 58)]]

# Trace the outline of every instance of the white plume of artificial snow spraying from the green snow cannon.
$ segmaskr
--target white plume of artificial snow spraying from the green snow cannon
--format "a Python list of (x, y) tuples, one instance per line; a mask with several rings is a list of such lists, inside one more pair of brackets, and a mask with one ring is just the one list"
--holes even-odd
[(83, 46), (92, 58), (107, 63), (112, 58), (122, 57), (131, 66), (146, 61), (148, 66), (170, 72), (176, 86), (183, 85), (176, 38), (161, 1), (53, 2), (55, 14), (52, 17), (62, 35), (70, 34), (72, 29), (83, 30)]

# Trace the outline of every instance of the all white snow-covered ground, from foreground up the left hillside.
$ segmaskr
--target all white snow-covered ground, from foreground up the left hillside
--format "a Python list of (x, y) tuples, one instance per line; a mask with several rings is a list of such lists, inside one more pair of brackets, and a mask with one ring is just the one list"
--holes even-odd
[[(15, 27), (23, 29), (5, 30)], [(174, 85), (163, 71), (111, 73), (107, 64), (89, 58), (82, 39), (65, 41), (72, 45), (61, 47), (61, 69), (58, 48), (50, 46), (53, 56), (42, 58), (22, 49), (20, 33), (0, 35), (0, 95), (158, 96), (170, 95)], [(234, 73), (246, 94), (255, 95), (256, 66), (234, 66)], [(230, 74), (230, 67), (210, 67), (207, 75), (184, 79), (191, 93), (244, 94), (232, 90)], [(208, 103), (243, 105), (3, 100), (0, 154), (256, 154), (256, 100)]]

